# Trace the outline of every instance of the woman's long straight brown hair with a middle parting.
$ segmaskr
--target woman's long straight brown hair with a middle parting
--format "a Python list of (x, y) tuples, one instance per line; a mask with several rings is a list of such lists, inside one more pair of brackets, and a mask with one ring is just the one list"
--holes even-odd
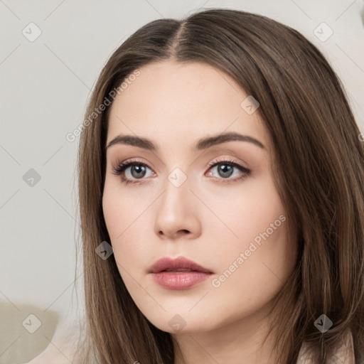
[[(102, 213), (110, 106), (95, 110), (135, 70), (164, 60), (212, 65), (259, 102), (257, 112), (272, 137), (275, 183), (299, 247), (294, 274), (272, 311), (277, 362), (295, 363), (306, 342), (314, 362), (327, 363), (350, 330), (355, 360), (361, 363), (364, 147), (343, 85), (298, 31), (265, 16), (229, 9), (198, 11), (181, 21), (151, 21), (114, 51), (100, 73), (79, 149), (87, 317), (83, 347), (102, 364), (173, 363), (171, 334), (141, 314), (114, 255), (100, 259), (95, 253), (101, 242), (110, 242)], [(325, 333), (314, 326), (321, 314), (333, 321)]]

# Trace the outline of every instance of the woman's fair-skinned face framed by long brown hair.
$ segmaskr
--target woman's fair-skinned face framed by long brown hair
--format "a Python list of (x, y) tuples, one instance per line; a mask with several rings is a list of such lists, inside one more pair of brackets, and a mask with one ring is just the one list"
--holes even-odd
[[(102, 198), (124, 284), (146, 319), (170, 333), (258, 317), (296, 255), (257, 105), (204, 63), (139, 71), (110, 110)], [(249, 138), (214, 138), (228, 133)], [(210, 273), (150, 272), (180, 256)]]

